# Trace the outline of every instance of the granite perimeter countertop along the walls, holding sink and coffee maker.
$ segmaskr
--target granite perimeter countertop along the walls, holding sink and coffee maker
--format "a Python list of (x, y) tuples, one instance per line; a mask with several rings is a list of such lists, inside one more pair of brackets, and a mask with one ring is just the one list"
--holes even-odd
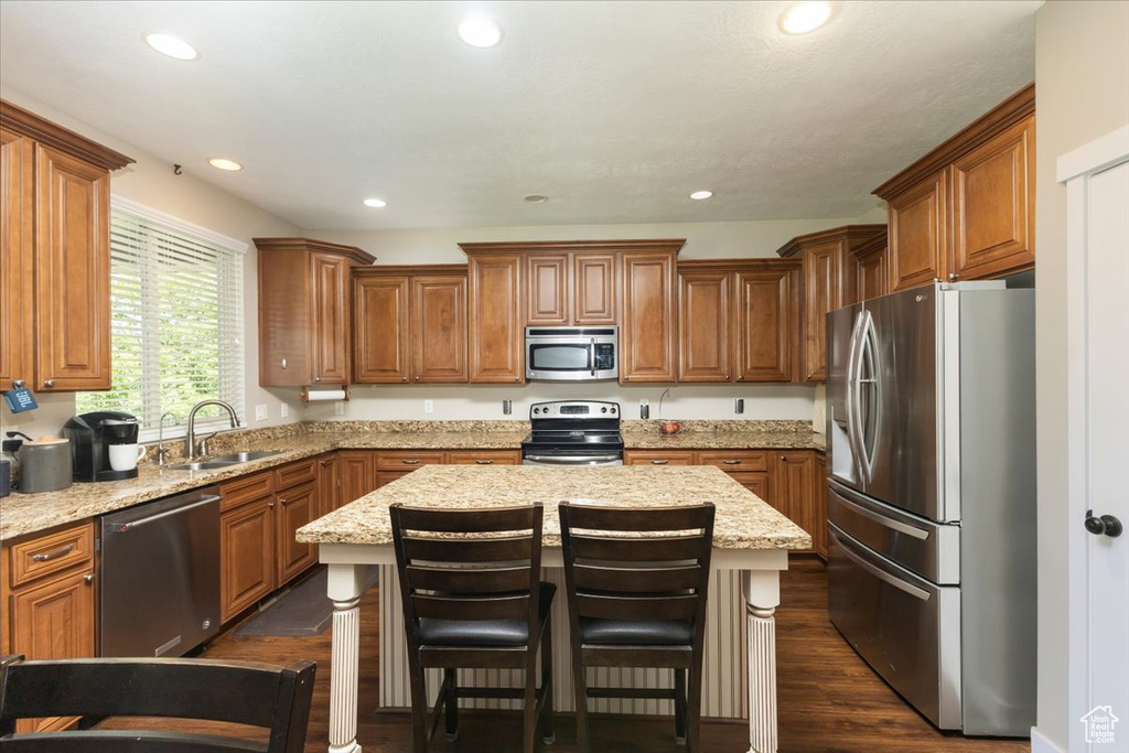
[[(822, 435), (802, 421), (686, 421), (674, 437), (658, 434), (657, 421), (624, 421), (628, 449), (813, 448)], [(213, 454), (280, 450), (278, 455), (209, 471), (170, 471), (139, 465), (137, 479), (76, 483), (69, 489), (0, 499), (0, 541), (77, 523), (114, 510), (208, 487), (256, 471), (335, 449), (518, 449), (530, 432), (526, 421), (320, 421), (231, 431), (212, 440)], [(168, 463), (183, 459), (184, 441), (172, 441)], [(495, 466), (492, 466), (495, 467)]]

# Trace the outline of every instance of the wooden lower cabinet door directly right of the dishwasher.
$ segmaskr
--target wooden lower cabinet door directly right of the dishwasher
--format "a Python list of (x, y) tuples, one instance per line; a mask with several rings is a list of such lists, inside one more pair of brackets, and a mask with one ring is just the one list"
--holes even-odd
[(274, 590), (274, 497), (219, 517), (220, 614), (227, 622)]

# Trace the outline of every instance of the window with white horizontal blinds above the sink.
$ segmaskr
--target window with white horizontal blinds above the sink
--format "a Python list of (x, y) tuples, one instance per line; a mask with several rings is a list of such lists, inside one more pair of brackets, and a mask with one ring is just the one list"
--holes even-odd
[[(80, 413), (141, 419), (141, 438), (185, 434), (189, 411), (220, 399), (244, 411), (243, 255), (225, 238), (115, 196), (110, 220), (113, 388), (77, 395)], [(226, 429), (226, 411), (196, 415)]]

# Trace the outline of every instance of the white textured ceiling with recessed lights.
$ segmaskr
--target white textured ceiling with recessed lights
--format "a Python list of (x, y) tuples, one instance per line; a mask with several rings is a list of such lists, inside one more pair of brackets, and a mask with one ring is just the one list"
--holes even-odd
[[(798, 37), (789, 5), (5, 0), (0, 81), (299, 227), (376, 229), (854, 217), (1034, 77), (1039, 1), (848, 0)], [(473, 11), (501, 45), (458, 41)]]

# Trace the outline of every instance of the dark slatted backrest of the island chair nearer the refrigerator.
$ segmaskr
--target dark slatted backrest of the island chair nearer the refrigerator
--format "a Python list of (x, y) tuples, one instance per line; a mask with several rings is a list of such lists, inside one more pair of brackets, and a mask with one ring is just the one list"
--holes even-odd
[(559, 510), (574, 620), (686, 620), (703, 630), (712, 505)]

